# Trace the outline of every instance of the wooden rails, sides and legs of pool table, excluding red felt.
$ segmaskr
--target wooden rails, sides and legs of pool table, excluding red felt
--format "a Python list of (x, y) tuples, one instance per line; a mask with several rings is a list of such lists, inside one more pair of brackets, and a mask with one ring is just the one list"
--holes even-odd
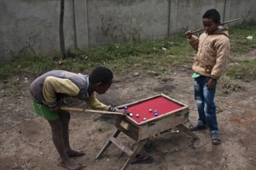
[[(110, 145), (116, 145), (119, 149), (123, 151), (123, 153), (126, 153), (126, 155), (128, 155), (126, 162), (121, 168), (123, 170), (126, 169), (130, 165), (132, 159), (135, 158), (137, 154), (139, 154), (140, 150), (143, 148), (145, 144), (145, 141), (147, 141), (150, 137), (157, 137), (169, 134), (171, 133), (171, 129), (178, 128), (178, 130), (184, 131), (186, 134), (192, 136), (193, 140), (198, 139), (198, 137), (194, 133), (192, 133), (192, 131), (189, 131), (189, 129), (184, 125), (184, 123), (189, 121), (189, 106), (182, 104), (181, 102), (174, 100), (171, 97), (164, 95), (163, 93), (158, 94), (154, 97), (165, 97), (166, 99), (171, 100), (176, 104), (180, 104), (182, 108), (171, 111), (166, 115), (161, 115), (159, 117), (155, 117), (152, 120), (144, 121), (141, 123), (133, 121), (132, 119), (130, 119), (130, 117), (116, 116), (117, 129), (112, 134), (112, 136), (110, 136), (109, 140), (106, 142), (106, 145), (103, 146), (103, 148), (101, 149), (101, 151), (99, 151), (99, 154), (96, 155), (95, 158), (98, 159), (109, 148)], [(122, 105), (117, 108), (121, 109), (124, 106), (129, 107), (129, 105), (131, 106), (133, 104), (140, 104), (140, 102), (153, 99), (154, 97), (148, 97), (146, 99)], [(154, 124), (154, 122), (151, 121), (156, 121), (161, 124)], [(127, 124), (128, 128), (124, 128), (122, 124)], [(163, 124), (164, 127), (162, 127)], [(152, 126), (156, 127), (154, 128), (154, 131), (150, 131), (150, 133), (147, 132), (146, 130), (148, 128), (151, 128)], [(136, 141), (131, 148), (127, 148), (125, 145), (123, 145), (122, 142), (117, 140), (117, 137), (121, 132), (123, 132), (123, 134), (126, 134), (128, 137)]]

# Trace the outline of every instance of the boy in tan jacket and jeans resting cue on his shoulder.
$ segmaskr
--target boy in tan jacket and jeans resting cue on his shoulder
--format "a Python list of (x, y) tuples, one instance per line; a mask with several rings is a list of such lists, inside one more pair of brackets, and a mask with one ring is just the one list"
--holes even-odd
[(220, 144), (220, 133), (216, 117), (214, 95), (216, 83), (226, 70), (230, 55), (230, 40), (227, 28), (220, 26), (220, 13), (209, 9), (202, 15), (205, 28), (199, 37), (191, 31), (185, 32), (190, 45), (197, 50), (192, 66), (194, 71), (195, 101), (197, 102), (199, 120), (190, 125), (191, 131), (209, 128), (212, 143)]

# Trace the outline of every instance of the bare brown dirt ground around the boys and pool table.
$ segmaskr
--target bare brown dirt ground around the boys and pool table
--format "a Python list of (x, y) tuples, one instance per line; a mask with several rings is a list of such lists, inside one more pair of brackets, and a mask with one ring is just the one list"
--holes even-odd
[[(255, 53), (247, 56), (255, 59)], [(183, 66), (175, 73), (152, 78), (139, 74), (115, 77), (106, 94), (98, 95), (105, 104), (119, 106), (167, 93), (189, 105), (189, 124), (198, 118), (193, 99), (192, 70)], [(135, 76), (136, 75), (136, 76)], [(130, 77), (130, 78), (129, 78)], [(51, 141), (50, 126), (42, 117), (33, 114), (28, 87), (32, 80), (17, 77), (0, 84), (0, 169), (64, 169), (57, 165), (57, 151)], [(21, 92), (12, 95), (10, 84), (19, 83)], [(243, 90), (216, 96), (218, 121), (222, 143), (212, 145), (209, 131), (195, 131), (199, 140), (184, 132), (152, 138), (153, 150), (143, 148), (141, 154), (151, 155), (151, 164), (130, 165), (127, 169), (255, 169), (256, 167), (256, 86), (255, 82), (241, 82)], [(79, 107), (85, 107), (80, 104)], [(185, 124), (189, 126), (189, 124)], [(86, 152), (74, 158), (86, 165), (84, 169), (119, 169), (128, 158), (111, 145), (101, 158), (99, 150), (116, 130), (112, 116), (71, 112), (70, 141), (75, 149)], [(134, 141), (125, 134), (119, 140), (130, 147)]]

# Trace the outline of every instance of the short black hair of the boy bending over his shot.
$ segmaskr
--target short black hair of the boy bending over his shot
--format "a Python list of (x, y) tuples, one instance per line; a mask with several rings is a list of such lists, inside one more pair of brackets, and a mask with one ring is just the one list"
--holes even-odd
[(89, 75), (90, 83), (102, 83), (107, 84), (113, 79), (113, 73), (111, 70), (104, 66), (97, 66)]

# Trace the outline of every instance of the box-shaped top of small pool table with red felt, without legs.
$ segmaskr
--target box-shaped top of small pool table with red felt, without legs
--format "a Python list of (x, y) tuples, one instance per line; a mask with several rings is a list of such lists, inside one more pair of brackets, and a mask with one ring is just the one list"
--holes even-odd
[[(127, 107), (126, 110), (133, 116), (127, 114), (124, 117), (117, 117), (116, 128), (135, 141), (150, 138), (150, 136), (189, 121), (189, 107), (163, 93), (124, 104), (118, 108), (123, 109), (124, 107)], [(157, 115), (155, 115), (155, 111)], [(138, 117), (137, 114), (139, 114)], [(126, 124), (128, 128), (124, 128), (123, 124)]]

